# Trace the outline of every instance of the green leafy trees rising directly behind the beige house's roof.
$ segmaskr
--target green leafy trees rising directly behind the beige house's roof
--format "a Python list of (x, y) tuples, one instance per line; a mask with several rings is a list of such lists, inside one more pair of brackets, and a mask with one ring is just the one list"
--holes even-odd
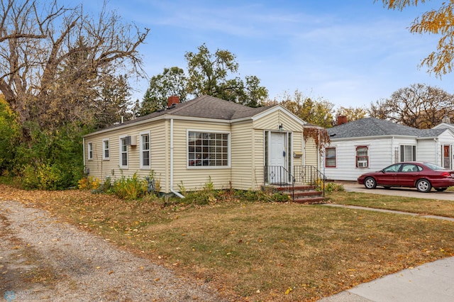
[(205, 44), (198, 52), (186, 52), (187, 74), (179, 67), (165, 68), (150, 80), (150, 86), (137, 110), (140, 115), (148, 114), (167, 106), (167, 98), (179, 96), (186, 101), (189, 96), (216, 96), (250, 107), (262, 106), (268, 91), (260, 85), (260, 79), (246, 76), (235, 77), (238, 62), (228, 50), (212, 53)]

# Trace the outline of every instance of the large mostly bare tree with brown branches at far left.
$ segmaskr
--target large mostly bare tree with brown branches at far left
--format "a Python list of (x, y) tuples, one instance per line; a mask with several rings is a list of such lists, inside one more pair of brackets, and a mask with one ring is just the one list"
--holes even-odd
[(122, 67), (142, 71), (137, 47), (148, 30), (123, 24), (105, 7), (95, 18), (56, 0), (6, 0), (0, 22), (0, 91), (26, 142), (32, 127), (91, 120), (90, 103), (106, 78)]

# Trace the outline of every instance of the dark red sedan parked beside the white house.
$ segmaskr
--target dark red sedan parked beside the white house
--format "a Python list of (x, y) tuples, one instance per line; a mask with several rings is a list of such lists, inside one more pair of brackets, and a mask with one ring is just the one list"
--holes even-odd
[(369, 172), (358, 177), (358, 184), (364, 184), (367, 189), (384, 186), (412, 187), (420, 192), (445, 191), (448, 186), (454, 186), (454, 171), (431, 164), (430, 162), (399, 162), (380, 171)]

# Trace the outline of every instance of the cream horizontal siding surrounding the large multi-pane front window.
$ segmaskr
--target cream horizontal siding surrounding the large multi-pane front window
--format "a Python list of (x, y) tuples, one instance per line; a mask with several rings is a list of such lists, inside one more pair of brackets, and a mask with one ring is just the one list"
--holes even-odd
[(179, 191), (183, 184), (187, 191), (201, 189), (210, 181), (216, 189), (227, 189), (231, 180), (231, 168), (188, 168), (187, 167), (187, 130), (231, 132), (230, 125), (198, 123), (174, 120), (174, 179), (173, 189)]

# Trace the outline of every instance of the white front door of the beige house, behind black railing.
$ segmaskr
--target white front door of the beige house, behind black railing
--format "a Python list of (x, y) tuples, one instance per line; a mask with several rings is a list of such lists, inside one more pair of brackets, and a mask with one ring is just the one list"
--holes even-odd
[(286, 159), (286, 133), (270, 133), (270, 162), (268, 163), (268, 179), (271, 184), (282, 184), (287, 182), (287, 170), (285, 169)]

